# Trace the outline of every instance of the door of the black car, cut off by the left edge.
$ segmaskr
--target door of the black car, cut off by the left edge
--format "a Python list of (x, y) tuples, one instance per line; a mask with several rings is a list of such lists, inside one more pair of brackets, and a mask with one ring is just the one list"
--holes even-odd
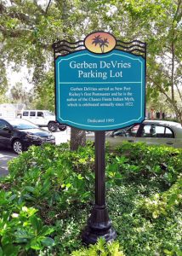
[(12, 127), (7, 122), (0, 120), (0, 143), (2, 146), (8, 147), (10, 145), (12, 131)]

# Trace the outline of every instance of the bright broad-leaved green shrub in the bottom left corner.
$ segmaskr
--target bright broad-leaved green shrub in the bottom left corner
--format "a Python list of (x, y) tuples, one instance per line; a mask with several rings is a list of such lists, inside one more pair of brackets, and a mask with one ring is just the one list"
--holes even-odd
[(37, 217), (37, 209), (19, 204), (12, 192), (0, 191), (0, 212), (2, 255), (26, 255), (31, 249), (43, 250), (54, 246), (54, 240), (48, 237), (54, 229)]

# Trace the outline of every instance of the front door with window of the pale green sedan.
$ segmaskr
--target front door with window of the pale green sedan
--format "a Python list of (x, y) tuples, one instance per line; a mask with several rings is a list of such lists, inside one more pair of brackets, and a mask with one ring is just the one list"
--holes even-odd
[(174, 132), (170, 127), (156, 124), (143, 124), (136, 142), (155, 145), (175, 145)]

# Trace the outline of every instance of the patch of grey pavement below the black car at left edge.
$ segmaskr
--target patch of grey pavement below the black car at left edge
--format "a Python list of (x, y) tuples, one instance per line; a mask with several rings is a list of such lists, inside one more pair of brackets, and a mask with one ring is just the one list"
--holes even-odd
[(9, 173), (8, 162), (14, 157), (17, 157), (17, 154), (14, 154), (12, 150), (0, 148), (0, 176), (7, 175)]

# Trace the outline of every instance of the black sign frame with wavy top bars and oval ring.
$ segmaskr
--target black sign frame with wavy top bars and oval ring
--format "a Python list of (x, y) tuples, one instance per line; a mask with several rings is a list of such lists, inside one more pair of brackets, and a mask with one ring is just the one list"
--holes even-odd
[[(114, 47), (110, 50), (108, 50), (107, 52), (93, 52), (91, 49), (88, 49), (86, 48), (86, 42), (87, 42), (87, 39), (89, 37), (92, 37), (93, 38), (93, 35), (96, 34), (96, 35), (100, 35), (101, 33), (105, 33), (106, 35), (108, 34), (109, 37), (112, 37), (114, 38), (113, 41), (115, 40), (115, 44), (114, 44)], [(54, 48), (54, 68), (55, 68), (55, 72), (54, 72), (54, 90), (55, 90), (55, 106), (56, 106), (56, 109), (55, 109), (55, 114), (56, 114), (56, 120), (59, 122), (59, 123), (63, 123), (65, 125), (69, 125), (71, 127), (75, 127), (77, 129), (80, 129), (80, 130), (85, 130), (85, 131), (113, 131), (113, 130), (118, 130), (118, 129), (122, 129), (122, 128), (125, 128), (125, 127), (128, 127), (128, 126), (131, 126), (131, 125), (137, 125), (139, 123), (141, 123), (143, 120), (145, 120), (145, 83), (146, 83), (146, 44), (139, 41), (139, 40), (133, 40), (131, 42), (123, 42), (121, 40), (117, 40), (117, 38), (115, 38), (113, 35), (111, 35), (111, 33), (108, 33), (108, 32), (102, 32), (102, 31), (98, 31), (98, 32), (92, 32), (90, 34), (88, 34), (88, 36), (84, 39), (84, 40), (79, 40), (75, 43), (71, 43), (71, 42), (68, 42), (66, 40), (61, 40), (61, 41), (58, 41), (56, 43), (53, 44), (53, 48)], [(134, 56), (135, 60), (136, 60), (136, 57), (140, 57), (142, 58), (142, 60), (144, 60), (143, 64), (144, 64), (144, 68), (143, 68), (143, 77), (141, 77), (141, 79), (144, 79), (141, 84), (140, 84), (140, 88), (142, 90), (142, 93), (143, 96), (140, 96), (140, 99), (143, 100), (143, 106), (140, 107), (140, 110), (142, 112), (141, 114), (141, 118), (139, 119), (139, 121), (137, 119), (134, 119), (133, 122), (129, 122), (130, 120), (128, 119), (128, 122), (124, 122), (121, 126), (119, 124), (117, 125), (112, 125), (110, 124), (111, 127), (109, 127), (109, 124), (105, 125), (105, 127), (103, 128), (103, 125), (102, 127), (100, 128), (99, 125), (95, 125), (95, 124), (90, 124), (90, 125), (75, 125), (75, 124), (72, 124), (71, 121), (69, 121), (69, 119), (63, 119), (62, 117), (60, 118), (58, 116), (59, 114), (59, 111), (58, 111), (58, 104), (61, 104), (59, 101), (60, 99), (59, 96), (58, 96), (58, 79), (56, 78), (56, 61), (58, 61), (58, 59), (60, 57), (63, 57), (63, 61), (64, 61), (64, 58), (67, 58), (68, 56), (72, 56), (72, 54), (74, 55), (77, 55), (78, 56), (80, 54), (82, 54), (84, 52), (84, 50), (87, 50), (88, 52), (90, 52), (91, 54), (94, 54), (95, 55), (95, 58), (96, 56), (98, 55), (98, 57), (100, 56), (104, 56), (105, 55), (108, 55), (109, 53), (112, 54), (113, 51), (117, 51), (119, 54), (123, 53), (124, 55), (128, 55), (128, 58), (129, 56), (132, 57)], [(141, 75), (142, 76), (142, 75)], [(92, 84), (92, 82), (89, 82), (90, 84)], [(73, 85), (74, 86), (74, 85)], [(92, 86), (92, 85), (91, 85)], [(136, 86), (135, 86), (136, 87)], [(142, 98), (143, 97), (143, 98)], [(65, 104), (65, 102), (64, 102)], [(64, 105), (62, 104), (62, 105)], [(60, 106), (60, 105), (59, 105)], [(100, 108), (100, 107), (99, 107)], [(119, 109), (119, 108), (118, 108)], [(111, 109), (110, 109), (111, 110)], [(121, 108), (121, 110), (123, 110)], [(77, 109), (77, 113), (78, 113), (78, 109)], [(98, 111), (100, 111), (98, 109)], [(108, 108), (107, 110), (108, 111)], [(111, 110), (112, 111), (112, 110)], [(71, 112), (71, 110), (70, 110)], [(67, 111), (64, 111), (64, 115), (66, 115)], [(74, 113), (74, 109), (73, 109), (73, 113)], [(71, 113), (70, 113), (71, 115)], [(112, 115), (111, 115), (112, 116)], [(67, 121), (66, 121), (67, 120)], [(124, 125), (126, 124), (126, 125)], [(94, 126), (95, 125), (95, 126)]]

